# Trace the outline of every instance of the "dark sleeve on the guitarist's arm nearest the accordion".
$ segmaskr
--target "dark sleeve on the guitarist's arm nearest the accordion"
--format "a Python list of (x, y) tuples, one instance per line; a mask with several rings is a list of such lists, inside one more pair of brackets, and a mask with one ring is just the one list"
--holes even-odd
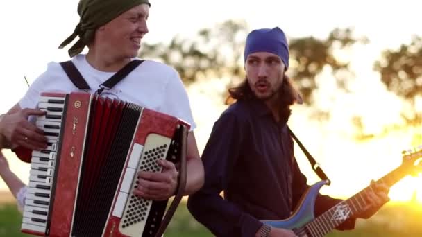
[(243, 136), (239, 121), (231, 114), (223, 114), (214, 123), (202, 155), (205, 184), (187, 202), (192, 216), (216, 236), (253, 237), (262, 226), (262, 222), (220, 195), (228, 186)]

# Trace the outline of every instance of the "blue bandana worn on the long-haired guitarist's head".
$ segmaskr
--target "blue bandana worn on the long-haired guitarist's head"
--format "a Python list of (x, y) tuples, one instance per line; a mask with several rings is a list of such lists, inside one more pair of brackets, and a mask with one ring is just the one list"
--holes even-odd
[(268, 52), (278, 55), (284, 62), (286, 69), (289, 68), (289, 46), (285, 33), (278, 27), (253, 30), (246, 37), (244, 60), (251, 53)]

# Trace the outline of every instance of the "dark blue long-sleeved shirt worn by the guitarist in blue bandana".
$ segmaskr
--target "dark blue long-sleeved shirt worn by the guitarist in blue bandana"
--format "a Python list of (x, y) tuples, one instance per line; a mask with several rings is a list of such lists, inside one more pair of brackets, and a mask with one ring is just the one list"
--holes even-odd
[[(189, 197), (189, 211), (216, 236), (255, 236), (259, 220), (288, 218), (308, 187), (293, 147), (287, 125), (262, 101), (237, 101), (214, 123), (202, 155), (205, 184)], [(339, 201), (320, 195), (316, 215)]]

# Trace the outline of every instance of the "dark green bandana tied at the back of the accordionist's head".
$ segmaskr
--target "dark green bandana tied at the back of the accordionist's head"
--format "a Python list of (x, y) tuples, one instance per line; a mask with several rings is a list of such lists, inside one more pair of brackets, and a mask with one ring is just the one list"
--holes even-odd
[(81, 53), (83, 48), (94, 40), (97, 28), (140, 4), (151, 6), (148, 0), (80, 0), (78, 3), (78, 14), (81, 17), (79, 24), (75, 27), (74, 33), (60, 44), (59, 49), (79, 36), (79, 40), (69, 49), (69, 55), (73, 57)]

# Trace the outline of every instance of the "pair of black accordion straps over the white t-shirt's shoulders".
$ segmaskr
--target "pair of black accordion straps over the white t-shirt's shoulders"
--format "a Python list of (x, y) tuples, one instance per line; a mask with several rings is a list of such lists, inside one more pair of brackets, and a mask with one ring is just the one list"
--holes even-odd
[[(104, 89), (111, 89), (114, 87), (117, 83), (119, 83), (123, 78), (126, 78), (128, 74), (133, 71), (136, 67), (138, 67), (140, 64), (142, 64), (144, 60), (132, 60), (128, 64), (126, 64), (122, 69), (117, 71), (115, 75), (113, 75), (111, 78), (108, 78), (105, 82), (103, 82), (100, 85), (100, 88), (96, 90), (95, 94), (101, 94)], [(78, 71), (75, 64), (71, 62), (71, 60), (66, 62), (60, 62), (60, 65), (65, 70), (66, 75), (69, 77), (71, 82), (74, 83), (78, 89), (91, 89), (86, 80), (83, 78), (82, 74)]]

